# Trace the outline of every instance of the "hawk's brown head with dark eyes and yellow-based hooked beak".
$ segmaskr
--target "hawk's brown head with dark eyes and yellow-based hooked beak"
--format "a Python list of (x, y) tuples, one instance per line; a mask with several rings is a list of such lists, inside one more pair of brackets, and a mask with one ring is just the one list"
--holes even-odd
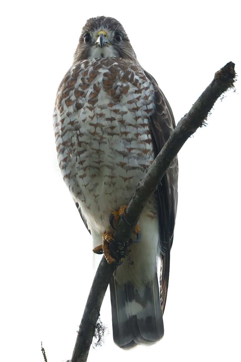
[(87, 20), (74, 53), (74, 63), (112, 56), (137, 61), (123, 26), (116, 19), (105, 16)]

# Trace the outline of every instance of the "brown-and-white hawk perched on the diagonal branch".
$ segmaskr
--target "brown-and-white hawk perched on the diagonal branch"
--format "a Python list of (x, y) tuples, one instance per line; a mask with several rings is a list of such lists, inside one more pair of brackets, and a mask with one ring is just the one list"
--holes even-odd
[[(53, 117), (62, 176), (97, 247), (104, 231), (114, 232), (112, 211), (128, 205), (175, 127), (164, 94), (138, 63), (119, 21), (100, 16), (86, 22)], [(141, 240), (110, 283), (113, 338), (120, 347), (150, 344), (164, 333), (177, 173), (175, 159), (139, 219)]]

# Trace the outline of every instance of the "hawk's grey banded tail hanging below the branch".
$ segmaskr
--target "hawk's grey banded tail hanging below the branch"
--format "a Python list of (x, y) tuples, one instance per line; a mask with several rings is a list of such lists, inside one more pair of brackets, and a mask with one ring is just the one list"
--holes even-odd
[(141, 286), (110, 282), (113, 339), (122, 348), (153, 344), (164, 334), (157, 275)]

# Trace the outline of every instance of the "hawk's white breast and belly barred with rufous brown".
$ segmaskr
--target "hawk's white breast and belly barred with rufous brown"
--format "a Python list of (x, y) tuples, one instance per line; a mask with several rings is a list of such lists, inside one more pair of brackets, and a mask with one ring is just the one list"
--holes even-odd
[[(129, 203), (154, 161), (153, 97), (142, 68), (120, 58), (78, 63), (59, 86), (53, 119), (59, 167), (98, 234), (109, 229), (111, 211)], [(147, 214), (156, 216), (153, 202)]]

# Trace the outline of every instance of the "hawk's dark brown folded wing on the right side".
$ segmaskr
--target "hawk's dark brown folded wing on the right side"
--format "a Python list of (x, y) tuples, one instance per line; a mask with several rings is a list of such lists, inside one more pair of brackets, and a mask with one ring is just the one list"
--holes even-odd
[[(155, 113), (150, 117), (150, 128), (153, 134), (153, 144), (155, 156), (158, 155), (169, 136), (175, 128), (175, 121), (171, 107), (164, 94), (158, 87), (156, 80), (145, 71), (147, 78), (151, 81), (155, 89)], [(160, 299), (162, 304), (162, 313), (164, 312), (169, 268), (170, 268), (170, 251), (173, 241), (173, 231), (177, 211), (177, 179), (178, 179), (178, 162), (177, 157), (167, 169), (160, 185), (158, 186), (159, 197), (159, 230), (160, 230), (160, 247), (161, 247), (161, 274), (160, 274)]]

